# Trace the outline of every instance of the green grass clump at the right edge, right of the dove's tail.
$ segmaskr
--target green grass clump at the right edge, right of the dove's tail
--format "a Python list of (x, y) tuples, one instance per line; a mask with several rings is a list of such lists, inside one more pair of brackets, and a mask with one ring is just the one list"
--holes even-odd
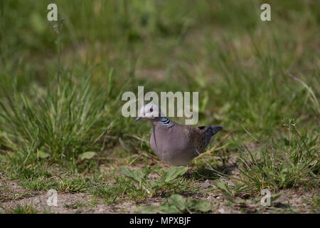
[[(286, 120), (287, 121), (287, 120)], [(283, 134), (282, 140), (258, 141), (262, 146), (252, 149), (242, 146), (240, 150), (240, 180), (236, 190), (261, 192), (282, 190), (292, 187), (316, 187), (319, 174), (319, 135), (299, 134), (293, 123), (289, 125), (289, 134)], [(257, 138), (255, 138), (257, 140)]]

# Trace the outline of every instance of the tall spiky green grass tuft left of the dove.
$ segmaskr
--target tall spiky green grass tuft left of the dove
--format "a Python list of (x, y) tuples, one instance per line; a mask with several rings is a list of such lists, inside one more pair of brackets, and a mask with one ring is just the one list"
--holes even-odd
[[(1, 100), (1, 142), (12, 150), (34, 148), (53, 160), (76, 160), (80, 152), (92, 150), (100, 135), (105, 98), (86, 80), (61, 81), (48, 90), (37, 89), (29, 97), (16, 91)], [(28, 146), (26, 146), (28, 147)]]

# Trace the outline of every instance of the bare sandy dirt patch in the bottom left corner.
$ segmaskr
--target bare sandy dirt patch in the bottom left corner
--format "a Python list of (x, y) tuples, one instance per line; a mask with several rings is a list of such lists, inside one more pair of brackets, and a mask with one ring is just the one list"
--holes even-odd
[[(130, 213), (135, 207), (133, 202), (123, 202), (117, 205), (108, 205), (96, 200), (85, 192), (61, 193), (57, 192), (56, 206), (53, 203), (52, 193), (46, 191), (31, 191), (10, 180), (0, 180), (0, 213), (11, 213), (20, 205), (31, 206), (36, 212), (43, 213)], [(51, 197), (51, 198), (50, 198)], [(49, 204), (48, 204), (49, 201)]]

